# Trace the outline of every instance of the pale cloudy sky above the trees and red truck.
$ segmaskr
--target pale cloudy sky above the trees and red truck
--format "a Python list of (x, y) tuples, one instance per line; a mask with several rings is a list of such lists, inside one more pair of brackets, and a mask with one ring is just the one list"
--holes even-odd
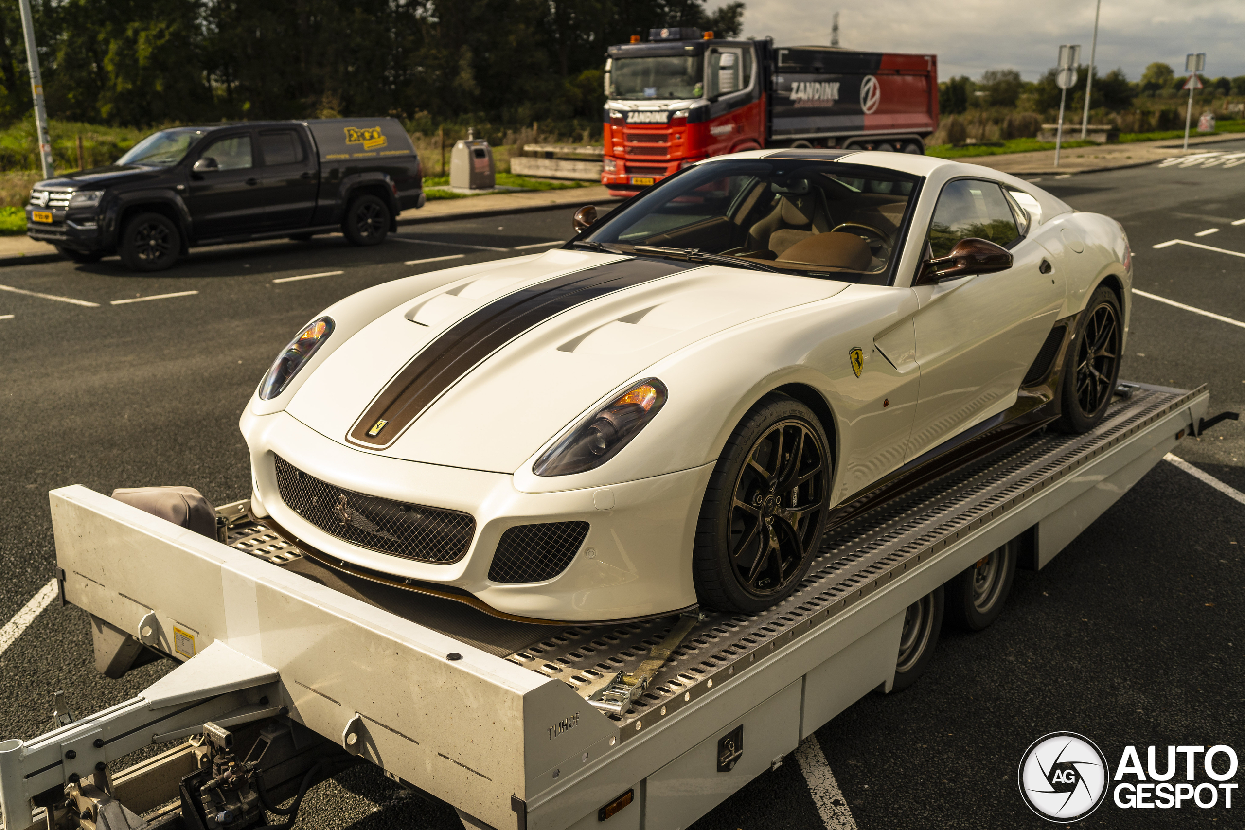
[[(723, 0), (710, 0), (708, 7)], [(1056, 63), (1059, 44), (1081, 44), (1089, 61), (1094, 0), (745, 0), (745, 36), (773, 35), (779, 46), (829, 44), (834, 11), (839, 44), (867, 51), (934, 52), (939, 77), (1020, 70), (1036, 80)], [(1184, 70), (1186, 52), (1206, 52), (1211, 77), (1245, 75), (1243, 0), (1102, 0), (1101, 71), (1122, 67), (1135, 81), (1153, 61)]]

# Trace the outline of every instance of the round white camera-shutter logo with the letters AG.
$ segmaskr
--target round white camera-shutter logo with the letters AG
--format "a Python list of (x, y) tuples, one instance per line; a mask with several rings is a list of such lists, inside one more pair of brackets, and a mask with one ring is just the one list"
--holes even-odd
[(1020, 760), (1020, 793), (1033, 813), (1067, 824), (1086, 818), (1107, 796), (1111, 770), (1102, 750), (1074, 732), (1035, 740)]

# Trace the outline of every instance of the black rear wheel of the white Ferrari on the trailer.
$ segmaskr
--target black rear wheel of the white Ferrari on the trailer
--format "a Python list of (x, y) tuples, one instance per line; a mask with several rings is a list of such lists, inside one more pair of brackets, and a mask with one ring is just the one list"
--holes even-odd
[(1076, 335), (1063, 361), (1061, 431), (1089, 432), (1107, 414), (1119, 380), (1122, 320), (1116, 292), (1106, 285), (1098, 286), (1077, 320)]

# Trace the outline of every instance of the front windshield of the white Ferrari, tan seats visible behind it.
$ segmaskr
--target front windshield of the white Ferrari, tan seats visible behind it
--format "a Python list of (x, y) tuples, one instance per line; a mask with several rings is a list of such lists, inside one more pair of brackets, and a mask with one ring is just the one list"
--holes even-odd
[(649, 246), (697, 250), (743, 266), (885, 285), (918, 182), (830, 161), (708, 162), (634, 198), (575, 244), (639, 255), (654, 255)]

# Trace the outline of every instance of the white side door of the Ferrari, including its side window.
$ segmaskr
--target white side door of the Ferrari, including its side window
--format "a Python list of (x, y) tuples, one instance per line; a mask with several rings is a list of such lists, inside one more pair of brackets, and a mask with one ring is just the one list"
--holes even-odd
[(955, 179), (939, 194), (926, 238), (933, 256), (945, 256), (960, 239), (976, 236), (1010, 249), (1013, 265), (915, 286), (920, 393), (909, 458), (1016, 401), (1064, 292), (1061, 275), (1041, 273), (1045, 250), (1025, 235), (1027, 225), (997, 182)]

